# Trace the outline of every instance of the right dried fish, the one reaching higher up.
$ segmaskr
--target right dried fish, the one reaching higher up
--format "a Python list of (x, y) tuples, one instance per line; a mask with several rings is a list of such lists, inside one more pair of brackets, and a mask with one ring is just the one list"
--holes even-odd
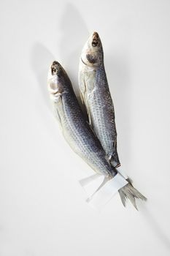
[(79, 67), (80, 98), (89, 123), (114, 167), (120, 167), (117, 154), (115, 110), (104, 68), (104, 51), (97, 32), (82, 48)]

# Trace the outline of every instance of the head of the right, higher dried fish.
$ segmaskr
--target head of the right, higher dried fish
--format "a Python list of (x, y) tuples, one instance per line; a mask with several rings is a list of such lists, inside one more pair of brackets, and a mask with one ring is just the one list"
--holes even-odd
[(93, 32), (85, 43), (81, 55), (82, 62), (88, 67), (100, 67), (104, 61), (101, 39), (97, 32)]

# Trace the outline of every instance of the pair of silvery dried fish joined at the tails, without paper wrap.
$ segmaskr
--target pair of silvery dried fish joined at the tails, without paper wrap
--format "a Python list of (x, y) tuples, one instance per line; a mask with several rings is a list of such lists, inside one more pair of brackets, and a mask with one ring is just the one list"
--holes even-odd
[[(104, 69), (104, 53), (101, 39), (94, 32), (86, 42), (80, 58), (80, 96), (88, 112), (89, 122), (74, 94), (72, 83), (61, 64), (53, 61), (48, 76), (48, 89), (55, 116), (61, 124), (63, 136), (69, 146), (96, 173), (104, 175), (104, 182), (118, 175), (120, 166), (117, 155), (115, 111)], [(146, 200), (131, 181), (119, 189), (125, 206), (128, 197), (136, 208), (136, 198)], [(98, 188), (99, 189), (99, 188)]]

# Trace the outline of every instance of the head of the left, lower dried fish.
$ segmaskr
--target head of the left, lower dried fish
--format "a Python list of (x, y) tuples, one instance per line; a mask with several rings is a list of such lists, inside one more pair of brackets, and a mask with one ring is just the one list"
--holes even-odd
[(50, 96), (55, 99), (61, 96), (65, 91), (64, 88), (64, 77), (66, 72), (58, 61), (53, 61), (50, 66), (47, 78), (48, 91)]

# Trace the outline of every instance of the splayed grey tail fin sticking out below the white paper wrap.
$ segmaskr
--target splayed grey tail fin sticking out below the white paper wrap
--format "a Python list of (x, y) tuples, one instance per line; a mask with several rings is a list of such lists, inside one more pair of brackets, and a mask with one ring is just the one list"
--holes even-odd
[(142, 195), (137, 189), (133, 187), (133, 185), (130, 183), (126, 184), (124, 187), (119, 189), (120, 198), (122, 200), (123, 206), (125, 206), (126, 198), (128, 198), (133, 206), (138, 210), (136, 206), (136, 198), (139, 198), (141, 200), (147, 200), (144, 195)]

